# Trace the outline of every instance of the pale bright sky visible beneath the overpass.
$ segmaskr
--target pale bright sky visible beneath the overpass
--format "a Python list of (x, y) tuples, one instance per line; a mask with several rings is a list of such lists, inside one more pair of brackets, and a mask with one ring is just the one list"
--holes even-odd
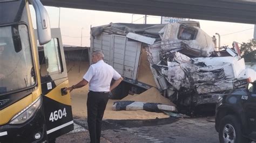
[[(145, 15), (106, 12), (95, 10), (56, 8), (45, 6), (50, 17), (51, 28), (60, 27), (64, 45), (90, 47), (90, 27), (109, 23), (143, 24)], [(30, 5), (33, 27), (36, 28), (35, 11)], [(60, 12), (59, 12), (60, 11)], [(209, 20), (190, 19), (200, 22), (200, 27), (208, 35), (220, 34), (220, 45), (231, 46), (233, 41), (248, 42), (253, 38), (254, 25)], [(160, 24), (159, 16), (147, 16), (147, 24)], [(81, 39), (82, 35), (82, 39)], [(216, 35), (217, 39), (218, 36)], [(82, 42), (81, 42), (82, 41)], [(218, 42), (218, 41), (217, 41)]]

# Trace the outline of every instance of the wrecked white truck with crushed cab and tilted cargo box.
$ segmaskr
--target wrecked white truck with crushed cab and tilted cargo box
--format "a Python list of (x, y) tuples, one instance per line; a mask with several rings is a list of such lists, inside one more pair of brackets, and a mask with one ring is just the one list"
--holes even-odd
[(98, 49), (124, 77), (113, 97), (156, 87), (177, 106), (215, 105), (219, 96), (256, 80), (237, 42), (217, 46), (194, 21), (92, 27), (89, 55)]

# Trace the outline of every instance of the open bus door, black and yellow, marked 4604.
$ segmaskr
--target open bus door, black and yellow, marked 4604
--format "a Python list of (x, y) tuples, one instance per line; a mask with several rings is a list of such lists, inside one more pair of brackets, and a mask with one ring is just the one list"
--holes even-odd
[(39, 46), (44, 115), (48, 138), (56, 138), (73, 130), (71, 98), (61, 89), (68, 87), (65, 55), (59, 28), (51, 29), (52, 39)]

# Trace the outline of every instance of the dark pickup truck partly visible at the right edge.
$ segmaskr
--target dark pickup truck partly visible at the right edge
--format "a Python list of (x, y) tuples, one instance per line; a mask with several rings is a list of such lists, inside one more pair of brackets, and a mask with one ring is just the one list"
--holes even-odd
[(256, 81), (219, 97), (215, 129), (220, 142), (256, 140)]

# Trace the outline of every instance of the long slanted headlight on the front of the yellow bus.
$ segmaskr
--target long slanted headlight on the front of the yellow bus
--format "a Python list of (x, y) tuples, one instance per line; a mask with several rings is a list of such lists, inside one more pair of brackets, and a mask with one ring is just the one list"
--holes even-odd
[(35, 114), (35, 112), (37, 111), (40, 105), (41, 105), (41, 97), (38, 97), (36, 101), (31, 103), (21, 112), (17, 113), (17, 115), (15, 115), (11, 119), (11, 122), (9, 124), (22, 124), (25, 121), (29, 120)]

